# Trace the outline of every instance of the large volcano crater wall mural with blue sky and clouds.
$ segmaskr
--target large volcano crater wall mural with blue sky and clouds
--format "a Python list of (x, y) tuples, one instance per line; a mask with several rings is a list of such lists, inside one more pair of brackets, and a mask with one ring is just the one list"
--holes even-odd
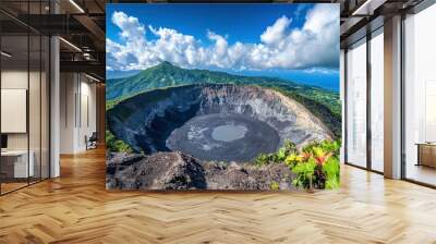
[(338, 188), (339, 4), (108, 4), (107, 188)]

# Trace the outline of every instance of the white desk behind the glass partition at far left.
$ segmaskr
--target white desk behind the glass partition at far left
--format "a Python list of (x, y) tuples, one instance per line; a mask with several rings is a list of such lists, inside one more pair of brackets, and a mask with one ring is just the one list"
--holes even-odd
[[(14, 178), (27, 178), (34, 176), (35, 174), (35, 152), (31, 150), (28, 152), (31, 160), (28, 160), (27, 167), (27, 150), (5, 150), (1, 151), (2, 160), (14, 160), (13, 176)], [(27, 174), (28, 173), (28, 174)]]

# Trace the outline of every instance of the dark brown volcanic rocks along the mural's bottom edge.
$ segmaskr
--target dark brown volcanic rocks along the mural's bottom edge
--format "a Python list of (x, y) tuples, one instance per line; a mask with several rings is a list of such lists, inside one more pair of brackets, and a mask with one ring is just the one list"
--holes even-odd
[(267, 191), (271, 183), (292, 188), (284, 164), (201, 161), (180, 151), (153, 156), (112, 154), (108, 159), (107, 188), (120, 190), (239, 190)]

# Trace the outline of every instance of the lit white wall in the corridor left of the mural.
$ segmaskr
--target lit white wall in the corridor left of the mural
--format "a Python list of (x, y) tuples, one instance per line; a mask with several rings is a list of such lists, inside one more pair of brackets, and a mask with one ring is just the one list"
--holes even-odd
[(96, 85), (83, 74), (61, 73), (60, 152), (86, 150), (85, 136), (96, 131)]

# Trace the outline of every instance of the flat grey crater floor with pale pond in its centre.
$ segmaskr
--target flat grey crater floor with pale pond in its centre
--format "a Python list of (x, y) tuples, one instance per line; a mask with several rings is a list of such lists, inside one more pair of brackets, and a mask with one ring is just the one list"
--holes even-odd
[(234, 113), (194, 117), (167, 139), (171, 150), (217, 161), (249, 161), (275, 151), (279, 143), (277, 131), (267, 123)]

